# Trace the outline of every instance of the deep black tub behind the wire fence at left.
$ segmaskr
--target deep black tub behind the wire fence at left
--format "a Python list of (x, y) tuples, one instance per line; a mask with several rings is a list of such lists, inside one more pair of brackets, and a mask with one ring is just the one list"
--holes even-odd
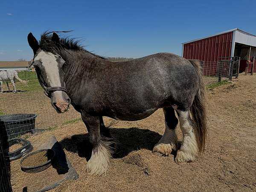
[(36, 114), (16, 113), (0, 116), (0, 135), (8, 139), (18, 137), (26, 133), (32, 133), (35, 129)]

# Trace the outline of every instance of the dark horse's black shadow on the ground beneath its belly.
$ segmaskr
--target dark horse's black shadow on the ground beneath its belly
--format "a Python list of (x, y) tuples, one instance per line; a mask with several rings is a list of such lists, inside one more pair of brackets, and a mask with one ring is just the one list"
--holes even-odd
[[(109, 132), (116, 142), (113, 158), (125, 157), (131, 151), (139, 149), (152, 150), (162, 137), (154, 131), (139, 128), (110, 128)], [(92, 146), (89, 143), (88, 134), (77, 134), (64, 138), (60, 144), (67, 151), (77, 153), (79, 157), (85, 157), (87, 160), (90, 159)]]

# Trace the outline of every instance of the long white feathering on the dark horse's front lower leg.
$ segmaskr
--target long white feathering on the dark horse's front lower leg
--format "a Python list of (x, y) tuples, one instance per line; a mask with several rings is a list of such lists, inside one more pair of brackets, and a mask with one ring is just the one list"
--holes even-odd
[(110, 166), (111, 147), (113, 142), (100, 141), (99, 146), (93, 149), (90, 160), (87, 162), (87, 172), (95, 175), (106, 174)]

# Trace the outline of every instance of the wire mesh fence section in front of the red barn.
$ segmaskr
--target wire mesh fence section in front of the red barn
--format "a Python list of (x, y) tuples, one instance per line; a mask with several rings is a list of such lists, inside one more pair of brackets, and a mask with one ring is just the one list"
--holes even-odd
[(207, 83), (232, 80), (239, 73), (239, 58), (220, 58), (219, 61), (201, 61), (202, 73)]

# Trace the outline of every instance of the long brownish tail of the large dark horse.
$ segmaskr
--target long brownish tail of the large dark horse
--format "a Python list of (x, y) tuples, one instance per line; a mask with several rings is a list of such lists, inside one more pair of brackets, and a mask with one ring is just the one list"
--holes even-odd
[(205, 90), (204, 81), (201, 73), (201, 66), (198, 60), (189, 60), (195, 67), (198, 74), (198, 90), (190, 108), (194, 122), (195, 137), (198, 144), (199, 154), (204, 151), (205, 141), (207, 139), (207, 118), (205, 109)]

